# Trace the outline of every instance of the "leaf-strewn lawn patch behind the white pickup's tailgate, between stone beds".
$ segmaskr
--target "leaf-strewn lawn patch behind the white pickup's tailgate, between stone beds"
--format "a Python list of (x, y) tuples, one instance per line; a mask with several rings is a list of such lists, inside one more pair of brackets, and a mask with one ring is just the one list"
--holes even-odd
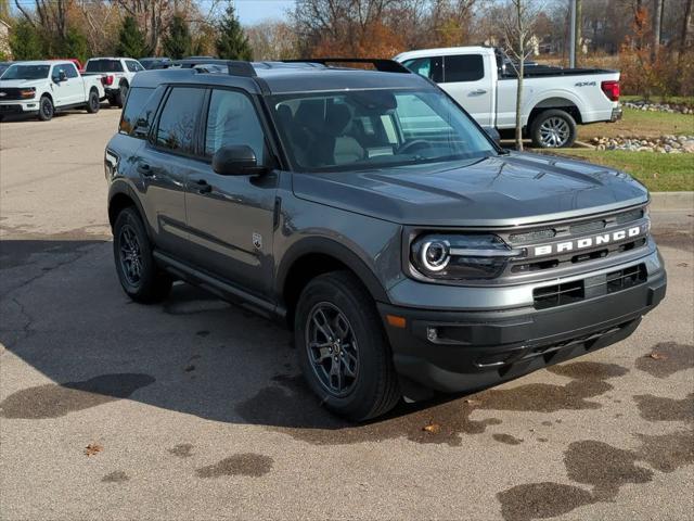
[(669, 114), (625, 109), (624, 117), (616, 123), (579, 125), (578, 139), (590, 141), (594, 137), (657, 138), (666, 135), (694, 135), (694, 114)]

